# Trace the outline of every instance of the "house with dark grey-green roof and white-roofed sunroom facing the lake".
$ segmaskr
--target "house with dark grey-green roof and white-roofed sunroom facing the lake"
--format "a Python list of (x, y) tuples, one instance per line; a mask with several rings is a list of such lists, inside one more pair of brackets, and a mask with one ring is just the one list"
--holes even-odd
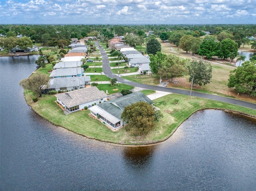
[(88, 109), (92, 115), (99, 117), (104, 123), (109, 124), (113, 129), (118, 129), (126, 124), (121, 118), (124, 107), (138, 101), (154, 104), (154, 102), (142, 92), (136, 92), (97, 104)]

